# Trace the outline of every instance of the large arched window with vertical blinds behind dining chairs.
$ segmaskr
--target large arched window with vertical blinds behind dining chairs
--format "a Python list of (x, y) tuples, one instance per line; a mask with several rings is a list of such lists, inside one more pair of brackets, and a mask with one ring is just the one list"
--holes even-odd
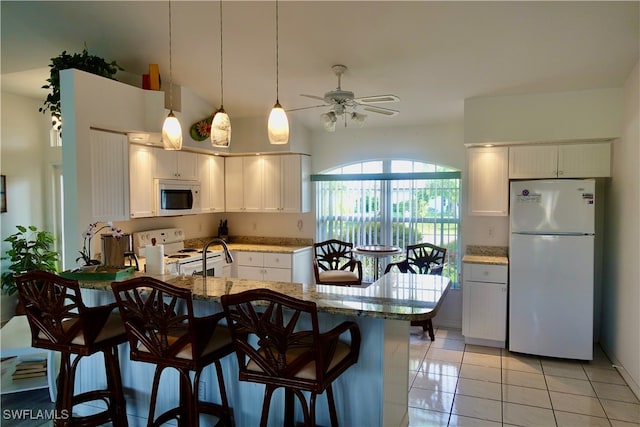
[[(412, 160), (374, 160), (327, 170), (311, 179), (316, 182), (316, 241), (443, 246), (448, 258), (443, 274), (458, 282), (459, 170)], [(371, 281), (372, 261), (363, 262), (364, 279)]]

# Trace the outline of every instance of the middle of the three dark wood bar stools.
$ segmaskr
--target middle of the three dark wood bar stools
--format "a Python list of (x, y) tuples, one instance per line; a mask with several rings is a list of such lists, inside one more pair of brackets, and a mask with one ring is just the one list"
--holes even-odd
[[(175, 419), (179, 426), (197, 427), (200, 413), (216, 416), (216, 425), (233, 425), (220, 364), (220, 359), (233, 353), (229, 330), (218, 324), (224, 313), (195, 317), (190, 290), (151, 277), (113, 282), (111, 286), (129, 338), (131, 360), (156, 365), (147, 426)], [(218, 376), (221, 404), (198, 398), (202, 370), (212, 363)], [(160, 377), (165, 368), (174, 368), (180, 375), (180, 402), (155, 417)], [(191, 371), (195, 372), (193, 383)]]

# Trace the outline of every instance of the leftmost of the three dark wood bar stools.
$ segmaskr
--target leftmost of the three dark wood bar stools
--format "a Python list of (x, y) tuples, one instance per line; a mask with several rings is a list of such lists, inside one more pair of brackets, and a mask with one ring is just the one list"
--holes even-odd
[[(46, 271), (18, 275), (16, 284), (33, 347), (61, 354), (54, 425), (98, 426), (112, 422), (114, 426), (127, 426), (118, 362), (118, 345), (126, 342), (127, 336), (115, 303), (86, 307), (76, 280)], [(78, 363), (82, 357), (98, 352), (104, 355), (107, 388), (74, 395)], [(97, 400), (106, 403), (104, 411), (73, 416), (75, 405)]]

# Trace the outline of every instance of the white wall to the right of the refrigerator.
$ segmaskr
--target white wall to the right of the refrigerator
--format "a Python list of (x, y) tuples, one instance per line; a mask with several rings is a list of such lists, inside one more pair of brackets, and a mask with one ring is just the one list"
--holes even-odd
[(640, 62), (624, 87), (622, 137), (607, 188), (601, 343), (640, 396)]

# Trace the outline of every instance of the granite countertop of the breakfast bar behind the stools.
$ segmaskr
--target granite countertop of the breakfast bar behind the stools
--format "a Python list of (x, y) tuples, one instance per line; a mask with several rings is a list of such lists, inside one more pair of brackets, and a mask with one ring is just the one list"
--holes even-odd
[[(135, 272), (123, 281), (145, 274)], [(313, 301), (319, 312), (397, 320), (424, 320), (435, 315), (449, 290), (443, 276), (389, 273), (363, 287), (269, 282), (225, 277), (151, 276), (172, 285), (191, 289), (193, 298), (220, 302), (225, 294), (267, 288), (305, 301)], [(81, 280), (85, 289), (111, 291), (110, 280)]]

